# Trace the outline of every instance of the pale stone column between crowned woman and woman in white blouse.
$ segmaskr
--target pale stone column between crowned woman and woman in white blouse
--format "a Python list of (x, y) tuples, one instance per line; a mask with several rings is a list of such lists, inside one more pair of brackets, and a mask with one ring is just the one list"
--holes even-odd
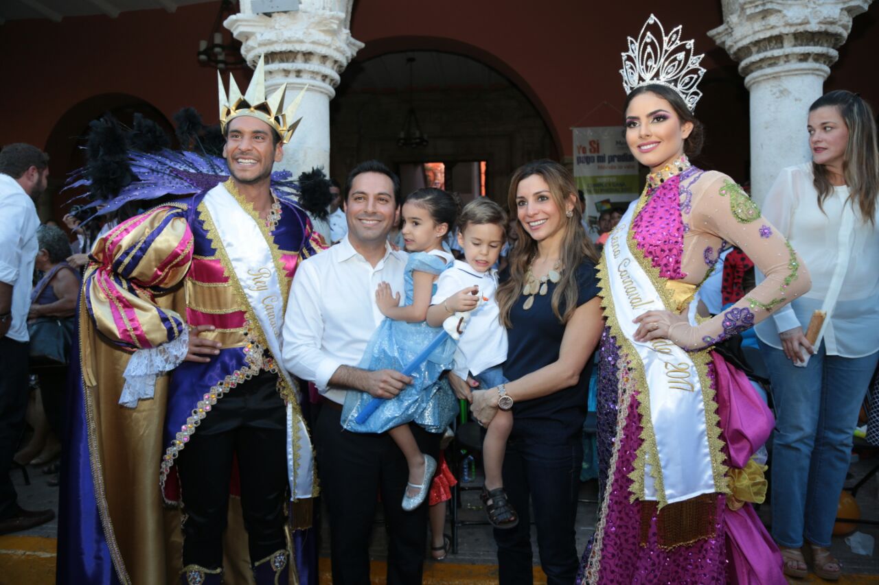
[(784, 167), (810, 160), (809, 106), (873, 0), (723, 0), (708, 36), (739, 62), (751, 92), (751, 192), (762, 203)]

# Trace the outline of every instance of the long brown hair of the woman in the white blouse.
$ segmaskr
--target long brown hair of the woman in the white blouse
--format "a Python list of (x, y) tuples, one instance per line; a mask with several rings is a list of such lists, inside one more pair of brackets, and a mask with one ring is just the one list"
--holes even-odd
[[(835, 107), (848, 127), (846, 155), (842, 176), (848, 186), (848, 200), (861, 209), (864, 223), (873, 224), (876, 211), (876, 193), (879, 191), (879, 148), (876, 148), (876, 125), (873, 111), (856, 93), (846, 90), (828, 91), (809, 106), (809, 112), (830, 105)], [(824, 202), (833, 192), (827, 168), (812, 162), (818, 207), (824, 211)]]

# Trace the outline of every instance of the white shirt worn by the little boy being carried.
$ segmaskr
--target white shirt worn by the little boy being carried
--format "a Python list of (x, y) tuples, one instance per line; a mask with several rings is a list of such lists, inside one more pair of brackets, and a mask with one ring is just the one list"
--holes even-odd
[(451, 268), (439, 275), (437, 292), (431, 304), (439, 305), (454, 293), (474, 285), (488, 301), (473, 310), (454, 352), (453, 372), (461, 379), (467, 379), (467, 372), (476, 376), (506, 361), (506, 329), (500, 324), (498, 301), (495, 300), (497, 271), (479, 272), (466, 262), (455, 260)]

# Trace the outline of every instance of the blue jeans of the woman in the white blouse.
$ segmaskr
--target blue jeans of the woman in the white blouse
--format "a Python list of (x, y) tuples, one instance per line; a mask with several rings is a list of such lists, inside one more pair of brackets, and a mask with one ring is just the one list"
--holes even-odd
[(879, 352), (864, 358), (826, 355), (821, 344), (804, 368), (760, 342), (775, 402), (772, 534), (781, 546), (803, 537), (830, 546), (846, 480), (858, 411)]

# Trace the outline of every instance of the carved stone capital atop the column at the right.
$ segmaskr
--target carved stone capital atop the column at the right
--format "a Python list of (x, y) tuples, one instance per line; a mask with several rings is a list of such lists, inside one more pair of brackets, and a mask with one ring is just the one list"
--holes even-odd
[[(785, 69), (826, 77), (852, 19), (872, 0), (723, 0), (723, 25), (708, 36), (739, 62), (745, 84), (755, 74)], [(751, 77), (751, 79), (749, 79)]]

